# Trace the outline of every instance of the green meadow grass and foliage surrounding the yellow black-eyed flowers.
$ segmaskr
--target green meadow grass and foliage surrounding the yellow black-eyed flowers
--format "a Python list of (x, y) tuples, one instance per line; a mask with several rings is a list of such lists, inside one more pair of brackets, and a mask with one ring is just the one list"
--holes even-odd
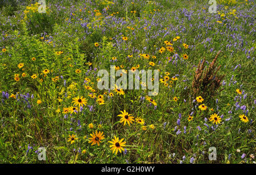
[[(9, 5), (1, 6), (0, 23), (5, 25), (0, 26), (1, 38), (4, 38), (0, 40), (0, 163), (180, 163), (181, 160), (190, 163), (191, 157), (194, 163), (253, 163), (250, 157), (255, 155), (255, 44), (251, 32), (254, 25), (250, 24), (254, 16), (253, 1), (247, 2), (248, 5), (245, 1), (232, 5), (228, 1), (218, 1), (218, 5), (221, 3), (218, 11), (225, 14), (225, 20), (218, 13), (207, 11), (208, 1), (134, 1), (134, 4), (131, 1), (114, 1), (114, 4), (75, 1), (73, 6), (69, 1), (46, 2), (46, 14), (30, 11), (27, 19), (24, 19), (24, 10), (31, 1), (18, 5), (15, 10)], [(109, 9), (104, 10), (107, 6)], [(96, 16), (95, 9), (102, 14)], [(234, 9), (237, 15), (228, 14)], [(128, 40), (123, 41), (122, 36)], [(173, 41), (176, 36), (180, 39)], [(207, 39), (210, 42), (204, 42)], [(172, 42), (180, 59), (175, 61), (174, 53), (158, 52), (165, 47), (166, 40)], [(95, 42), (100, 46), (94, 46)], [(240, 42), (243, 42), (242, 47)], [(184, 49), (183, 43), (195, 48)], [(229, 48), (226, 45), (230, 43)], [(197, 103), (192, 102), (195, 100), (193, 75), (201, 59), (212, 62), (218, 50), (222, 50), (217, 58), (217, 65), (221, 65), (218, 74), (225, 74), (226, 85), (216, 89), (216, 96), (203, 97), (208, 109), (201, 111), (198, 105), (195, 106)], [(58, 56), (56, 52), (59, 51), (63, 53)], [(139, 53), (149, 54), (150, 59), (144, 59)], [(187, 60), (182, 57), (185, 53), (189, 56)], [(128, 60), (129, 54), (133, 57)], [(167, 57), (171, 56), (172, 61), (168, 62)], [(32, 57), (36, 61), (32, 61)], [(112, 57), (117, 57), (117, 62), (110, 62)], [(150, 61), (155, 63), (154, 67), (148, 65)], [(19, 69), (19, 63), (24, 63), (24, 67)], [(178, 75), (178, 79), (172, 84), (169, 81), (172, 87), (159, 82), (159, 93), (152, 96), (157, 103), (155, 109), (146, 99), (141, 100), (148, 90), (125, 90), (125, 95), (117, 95), (111, 90), (114, 96), (110, 98), (108, 89), (98, 89), (97, 72), (110, 71), (110, 65), (123, 65), (125, 70), (137, 65), (139, 70), (159, 69), (162, 76), (159, 78), (165, 76), (164, 72), (170, 72), (170, 78)], [(234, 70), (237, 65), (241, 68), (238, 66)], [(45, 69), (51, 71), (47, 76), (42, 72)], [(81, 73), (77, 74), (76, 69)], [(26, 73), (24, 77), (23, 72)], [(15, 74), (19, 74), (18, 82), (14, 80)], [(32, 79), (32, 74), (38, 77)], [(53, 82), (56, 76), (59, 78)], [(87, 85), (95, 92), (84, 87), (85, 78), (90, 79)], [(243, 94), (239, 95), (236, 89), (241, 89)], [(16, 100), (6, 99), (3, 92), (8, 92), (9, 96), (13, 93)], [(103, 95), (105, 104), (99, 105), (88, 96), (89, 93)], [(24, 99), (23, 95), (27, 97)], [(77, 96), (84, 96), (89, 106), (66, 117), (63, 108), (73, 106), (72, 99)], [(177, 101), (173, 100), (175, 96)], [(38, 100), (42, 104), (37, 104)], [(240, 121), (238, 116), (246, 114), (246, 110), (236, 109), (237, 102), (246, 106), (249, 122)], [(60, 112), (56, 112), (57, 109)], [(123, 110), (134, 118), (145, 119), (147, 130), (142, 130), (142, 125), (135, 121), (130, 126), (123, 126), (118, 117)], [(193, 119), (188, 122), (192, 111)], [(217, 127), (209, 121), (214, 113), (223, 115)], [(180, 125), (177, 125), (179, 114)], [(232, 119), (225, 121), (230, 117)], [(89, 123), (93, 123), (93, 129), (89, 129)], [(102, 127), (98, 128), (100, 123)], [(91, 146), (88, 138), (96, 130), (103, 131), (105, 139), (100, 146)], [(181, 131), (178, 135), (177, 130)], [(79, 138), (73, 144), (68, 142), (72, 134)], [(114, 136), (127, 142), (126, 154), (112, 153), (108, 141)], [(33, 150), (27, 153), (28, 145)], [(39, 161), (35, 153), (42, 146), (46, 148), (46, 161)], [(216, 147), (216, 161), (208, 159), (209, 147)], [(86, 153), (81, 153), (82, 150)], [(245, 159), (241, 157), (243, 153)]]

